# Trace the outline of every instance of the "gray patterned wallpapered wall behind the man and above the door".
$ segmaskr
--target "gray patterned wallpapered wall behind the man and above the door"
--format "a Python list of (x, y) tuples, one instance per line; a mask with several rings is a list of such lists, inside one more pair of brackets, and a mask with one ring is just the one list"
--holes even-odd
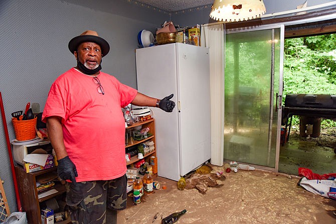
[[(264, 0), (267, 14), (292, 10), (304, 0)], [(331, 1), (309, 1), (318, 5)], [(0, 92), (4, 101), (10, 140), (15, 139), (11, 113), (24, 110), (27, 102), (44, 108), (49, 88), (63, 72), (76, 65), (68, 50), (71, 38), (95, 30), (111, 45), (103, 58), (102, 71), (136, 88), (137, 34), (153, 33), (164, 21), (181, 27), (210, 23), (211, 6), (168, 14), (134, 0), (2, 0), (0, 1)], [(1, 122), (2, 124), (2, 122)], [(0, 128), (0, 177), (11, 211), (17, 211), (6, 136)]]

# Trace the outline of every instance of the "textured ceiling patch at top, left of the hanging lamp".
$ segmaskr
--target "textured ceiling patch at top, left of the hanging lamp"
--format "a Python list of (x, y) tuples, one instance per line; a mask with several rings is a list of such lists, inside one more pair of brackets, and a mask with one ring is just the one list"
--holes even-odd
[(212, 5), (214, 0), (136, 0), (160, 10), (167, 12), (176, 12), (199, 6)]

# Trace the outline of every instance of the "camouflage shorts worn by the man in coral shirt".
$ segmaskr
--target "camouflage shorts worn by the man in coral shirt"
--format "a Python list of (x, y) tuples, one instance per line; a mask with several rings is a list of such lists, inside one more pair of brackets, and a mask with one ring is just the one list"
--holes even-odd
[(126, 208), (126, 175), (113, 180), (67, 183), (67, 204), (72, 223), (105, 224), (106, 208)]

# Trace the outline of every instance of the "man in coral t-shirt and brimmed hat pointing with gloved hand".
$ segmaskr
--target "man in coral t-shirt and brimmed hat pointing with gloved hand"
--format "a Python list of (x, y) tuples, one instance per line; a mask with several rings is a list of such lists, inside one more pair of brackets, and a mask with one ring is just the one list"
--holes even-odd
[(158, 100), (103, 73), (109, 44), (94, 31), (69, 42), (77, 60), (51, 86), (42, 120), (67, 182), (71, 219), (80, 224), (106, 222), (106, 208), (126, 207), (125, 123), (121, 108), (159, 107), (172, 112), (169, 97)]

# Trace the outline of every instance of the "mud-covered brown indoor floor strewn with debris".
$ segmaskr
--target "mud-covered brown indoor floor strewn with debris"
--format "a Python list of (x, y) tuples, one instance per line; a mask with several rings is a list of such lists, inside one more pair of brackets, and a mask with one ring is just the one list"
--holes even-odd
[[(215, 173), (223, 170), (212, 167)], [(183, 209), (187, 213), (176, 223), (336, 223), (336, 200), (297, 186), (296, 176), (261, 170), (224, 175), (217, 180), (219, 187), (204, 194), (179, 190), (176, 181), (158, 177), (161, 188), (144, 195), (140, 204), (134, 205), (128, 196), (127, 209), (118, 211), (118, 223), (161, 223), (161, 217)]]

